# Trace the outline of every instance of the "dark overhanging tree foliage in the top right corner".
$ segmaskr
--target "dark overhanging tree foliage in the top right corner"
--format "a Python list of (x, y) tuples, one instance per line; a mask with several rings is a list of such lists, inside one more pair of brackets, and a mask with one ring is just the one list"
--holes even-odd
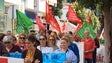
[(104, 6), (107, 4), (108, 1), (112, 5), (112, 0), (77, 0), (77, 2), (81, 6), (90, 8), (92, 10), (97, 9), (101, 13), (103, 13)]

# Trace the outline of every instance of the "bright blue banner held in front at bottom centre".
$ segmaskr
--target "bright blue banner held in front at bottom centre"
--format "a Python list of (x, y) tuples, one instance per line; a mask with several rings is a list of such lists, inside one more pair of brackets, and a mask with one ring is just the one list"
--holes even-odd
[(66, 60), (66, 53), (42, 53), (43, 63), (64, 63)]

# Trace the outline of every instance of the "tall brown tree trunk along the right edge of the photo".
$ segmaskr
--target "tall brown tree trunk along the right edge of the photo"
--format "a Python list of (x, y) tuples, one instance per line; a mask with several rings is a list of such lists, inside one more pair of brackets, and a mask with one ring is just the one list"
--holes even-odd
[(112, 34), (110, 21), (110, 2), (104, 5), (105, 63), (112, 63)]

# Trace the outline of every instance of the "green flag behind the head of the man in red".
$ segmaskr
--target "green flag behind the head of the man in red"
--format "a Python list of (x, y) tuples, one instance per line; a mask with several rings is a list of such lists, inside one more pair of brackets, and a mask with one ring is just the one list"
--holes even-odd
[(94, 30), (91, 25), (89, 25), (87, 22), (84, 22), (83, 26), (77, 31), (77, 34), (80, 38), (84, 38), (84, 31), (88, 29), (90, 31), (90, 36), (95, 39), (96, 35), (94, 33)]

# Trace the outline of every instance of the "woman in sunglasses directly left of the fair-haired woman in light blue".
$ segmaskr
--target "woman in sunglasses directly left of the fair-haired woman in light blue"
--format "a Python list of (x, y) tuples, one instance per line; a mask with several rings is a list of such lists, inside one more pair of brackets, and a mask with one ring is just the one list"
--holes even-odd
[(53, 51), (58, 49), (58, 46), (56, 45), (56, 38), (52, 35), (48, 37), (48, 46), (53, 48)]

